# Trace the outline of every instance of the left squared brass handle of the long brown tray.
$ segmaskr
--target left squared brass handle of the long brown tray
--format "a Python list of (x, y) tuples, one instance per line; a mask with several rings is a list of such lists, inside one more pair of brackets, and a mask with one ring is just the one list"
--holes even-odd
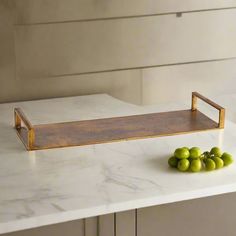
[(15, 129), (18, 133), (18, 135), (21, 137), (20, 131), (23, 128), (22, 123), (25, 125), (27, 129), (27, 146), (26, 148), (28, 150), (32, 150), (34, 146), (34, 141), (35, 141), (35, 132), (34, 128), (29, 122), (29, 120), (26, 118), (25, 114), (20, 108), (15, 108), (14, 109), (14, 118), (15, 118)]

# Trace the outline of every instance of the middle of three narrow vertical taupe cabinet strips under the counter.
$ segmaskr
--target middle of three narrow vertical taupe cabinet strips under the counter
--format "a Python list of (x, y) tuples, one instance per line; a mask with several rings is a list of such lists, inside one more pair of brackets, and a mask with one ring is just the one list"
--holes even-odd
[(99, 216), (98, 235), (115, 236), (115, 214)]

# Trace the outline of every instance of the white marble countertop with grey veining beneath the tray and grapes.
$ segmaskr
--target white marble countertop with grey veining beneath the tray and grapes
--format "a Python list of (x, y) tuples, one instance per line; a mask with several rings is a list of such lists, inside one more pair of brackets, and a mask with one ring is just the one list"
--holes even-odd
[(13, 129), (14, 107), (34, 124), (164, 111), (108, 95), (1, 104), (0, 233), (236, 191), (236, 162), (195, 174), (167, 165), (181, 146), (220, 146), (236, 156), (230, 121), (225, 130), (27, 152)]

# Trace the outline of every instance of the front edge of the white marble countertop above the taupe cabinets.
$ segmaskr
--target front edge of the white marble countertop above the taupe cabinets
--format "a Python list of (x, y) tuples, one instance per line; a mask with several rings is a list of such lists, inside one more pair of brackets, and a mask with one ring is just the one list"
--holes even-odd
[(81, 220), (89, 217), (96, 217), (110, 213), (118, 213), (122, 211), (140, 209), (144, 207), (158, 206), (162, 204), (216, 196), (225, 193), (232, 193), (235, 191), (236, 191), (236, 183), (212, 188), (206, 188), (206, 189), (198, 189), (195, 191), (189, 191), (184, 194), (183, 193), (172, 194), (168, 196), (160, 196), (160, 197), (139, 199), (135, 201), (132, 200), (127, 202), (121, 202), (113, 204), (112, 206), (104, 205), (89, 209), (73, 210), (45, 216), (31, 217), (28, 219), (0, 223), (0, 234), (12, 233), (21, 230), (33, 229), (52, 224), (65, 223), (73, 220)]

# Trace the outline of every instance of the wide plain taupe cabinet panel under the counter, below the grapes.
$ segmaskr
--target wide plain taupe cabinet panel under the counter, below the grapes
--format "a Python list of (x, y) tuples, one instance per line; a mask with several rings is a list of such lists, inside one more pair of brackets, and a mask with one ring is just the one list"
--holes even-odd
[(138, 236), (233, 236), (236, 194), (225, 194), (138, 211)]

